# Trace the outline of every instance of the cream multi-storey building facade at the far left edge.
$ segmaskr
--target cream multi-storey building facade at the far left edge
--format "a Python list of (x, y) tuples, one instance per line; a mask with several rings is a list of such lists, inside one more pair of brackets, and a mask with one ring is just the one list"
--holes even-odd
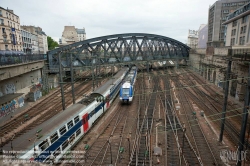
[(0, 51), (23, 51), (20, 18), (13, 10), (0, 7)]

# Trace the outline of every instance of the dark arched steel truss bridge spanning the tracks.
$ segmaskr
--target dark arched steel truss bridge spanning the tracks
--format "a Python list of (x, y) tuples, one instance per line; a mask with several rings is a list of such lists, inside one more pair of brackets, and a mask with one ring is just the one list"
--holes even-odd
[[(126, 33), (92, 38), (48, 52), (49, 71), (121, 64), (149, 64), (154, 61), (189, 58), (190, 47), (169, 37)], [(72, 62), (72, 63), (71, 63)], [(61, 64), (61, 65), (59, 65)], [(72, 65), (71, 65), (72, 64)]]

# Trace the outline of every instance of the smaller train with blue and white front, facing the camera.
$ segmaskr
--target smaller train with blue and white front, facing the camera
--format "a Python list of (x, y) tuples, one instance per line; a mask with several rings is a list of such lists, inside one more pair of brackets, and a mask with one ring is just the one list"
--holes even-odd
[(134, 84), (137, 77), (137, 67), (131, 68), (129, 74), (125, 77), (120, 88), (120, 101), (122, 103), (131, 103), (134, 97)]

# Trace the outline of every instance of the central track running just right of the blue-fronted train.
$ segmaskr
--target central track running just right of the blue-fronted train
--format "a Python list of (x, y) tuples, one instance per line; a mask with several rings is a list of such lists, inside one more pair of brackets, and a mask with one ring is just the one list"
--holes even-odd
[[(144, 76), (144, 75), (143, 75)], [(136, 140), (134, 142), (133, 151), (131, 154), (129, 165), (150, 165), (152, 164), (150, 134), (152, 130), (152, 123), (154, 118), (154, 107), (156, 101), (156, 88), (157, 84), (154, 82), (153, 93), (147, 96), (145, 91), (145, 84), (140, 85), (139, 95), (139, 115)], [(148, 103), (148, 104), (147, 104)]]

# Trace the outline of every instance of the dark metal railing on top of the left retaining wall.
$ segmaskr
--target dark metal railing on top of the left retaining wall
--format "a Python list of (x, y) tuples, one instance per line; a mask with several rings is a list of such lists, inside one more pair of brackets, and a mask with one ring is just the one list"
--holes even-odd
[(46, 54), (24, 54), (23, 52), (11, 52), (2, 54), (0, 52), (0, 66), (28, 63), (38, 60), (46, 60)]

